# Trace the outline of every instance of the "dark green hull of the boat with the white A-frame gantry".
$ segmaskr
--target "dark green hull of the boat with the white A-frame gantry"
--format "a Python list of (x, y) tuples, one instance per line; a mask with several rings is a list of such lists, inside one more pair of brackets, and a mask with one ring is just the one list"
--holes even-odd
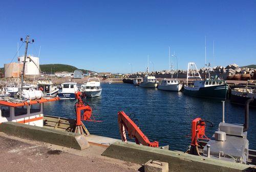
[(228, 86), (216, 85), (211, 87), (203, 87), (199, 90), (193, 90), (184, 86), (184, 94), (194, 97), (204, 97), (204, 98), (217, 98), (217, 99), (226, 99), (227, 97)]

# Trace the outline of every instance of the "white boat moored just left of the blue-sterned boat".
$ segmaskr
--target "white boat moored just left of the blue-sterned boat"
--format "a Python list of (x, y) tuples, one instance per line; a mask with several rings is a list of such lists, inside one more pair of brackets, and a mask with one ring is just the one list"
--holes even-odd
[(37, 81), (37, 87), (39, 90), (48, 97), (56, 97), (59, 89), (53, 85), (50, 79), (41, 79)]

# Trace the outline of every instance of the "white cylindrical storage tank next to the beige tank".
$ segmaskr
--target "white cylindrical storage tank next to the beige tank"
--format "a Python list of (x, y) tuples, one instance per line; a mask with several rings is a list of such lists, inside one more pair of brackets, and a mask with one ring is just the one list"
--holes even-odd
[[(24, 56), (18, 57), (18, 63), (24, 63)], [(39, 75), (39, 57), (28, 55), (25, 65), (25, 76)]]

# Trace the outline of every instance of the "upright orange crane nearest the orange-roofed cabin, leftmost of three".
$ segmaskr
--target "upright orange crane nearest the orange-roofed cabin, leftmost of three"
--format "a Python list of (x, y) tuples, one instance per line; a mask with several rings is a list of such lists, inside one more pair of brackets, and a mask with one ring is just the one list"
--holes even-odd
[(92, 115), (91, 107), (82, 100), (84, 96), (82, 95), (81, 92), (79, 91), (75, 92), (75, 97), (77, 99), (77, 102), (75, 103), (75, 111), (76, 111), (75, 133), (89, 135), (89, 132), (86, 126), (84, 126), (84, 124), (82, 123), (82, 120), (92, 121), (92, 122), (102, 122), (102, 121), (95, 120), (95, 118)]

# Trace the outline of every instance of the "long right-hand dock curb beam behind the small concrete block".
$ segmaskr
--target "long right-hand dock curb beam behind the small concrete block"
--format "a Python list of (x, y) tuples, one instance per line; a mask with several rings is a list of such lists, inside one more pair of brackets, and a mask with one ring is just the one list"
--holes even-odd
[(137, 164), (144, 164), (151, 159), (159, 160), (169, 164), (169, 171), (237, 172), (251, 170), (250, 166), (245, 164), (124, 142), (111, 144), (102, 155)]

